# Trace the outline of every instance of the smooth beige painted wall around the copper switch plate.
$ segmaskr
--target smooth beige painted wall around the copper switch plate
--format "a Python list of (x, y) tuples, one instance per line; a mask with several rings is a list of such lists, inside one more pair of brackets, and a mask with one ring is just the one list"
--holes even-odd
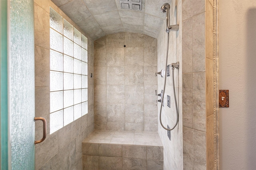
[(220, 169), (256, 169), (256, 2), (219, 1)]

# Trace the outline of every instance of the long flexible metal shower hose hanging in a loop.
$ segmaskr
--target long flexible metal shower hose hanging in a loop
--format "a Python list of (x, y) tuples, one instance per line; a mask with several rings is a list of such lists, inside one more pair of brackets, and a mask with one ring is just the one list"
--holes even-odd
[[(168, 33), (168, 41), (167, 41), (167, 50), (166, 50), (166, 64), (165, 64), (165, 73), (166, 73), (166, 69), (167, 69), (167, 63), (168, 63), (168, 49), (169, 49), (169, 33)], [(166, 87), (166, 77), (167, 75), (165, 74), (164, 76), (164, 91), (163, 91), (163, 95), (162, 95), (162, 101), (161, 101), (161, 107), (160, 107), (160, 123), (161, 123), (161, 126), (168, 130), (168, 131), (171, 131), (173, 130), (177, 125), (178, 125), (178, 122), (179, 122), (179, 111), (178, 111), (178, 105), (177, 105), (177, 99), (176, 99), (176, 93), (175, 93), (175, 86), (174, 86), (174, 67), (172, 67), (172, 82), (173, 82), (173, 91), (174, 91), (174, 98), (175, 98), (175, 105), (176, 105), (176, 114), (177, 114), (177, 119), (176, 119), (176, 123), (175, 125), (171, 128), (171, 129), (168, 129), (166, 127), (164, 127), (163, 123), (162, 123), (162, 118), (161, 118), (161, 115), (162, 115), (162, 107), (163, 107), (163, 102), (164, 102), (164, 92), (165, 92), (165, 87)]]

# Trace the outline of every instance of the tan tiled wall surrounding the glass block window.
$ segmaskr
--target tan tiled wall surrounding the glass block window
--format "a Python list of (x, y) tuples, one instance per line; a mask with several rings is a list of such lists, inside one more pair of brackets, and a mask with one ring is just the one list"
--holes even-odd
[[(94, 130), (94, 80), (88, 78), (88, 114), (50, 135), (50, 6), (83, 33), (52, 1), (34, 0), (35, 116), (47, 120), (46, 140), (35, 146), (35, 166), (36, 170), (82, 169), (82, 141)], [(94, 44), (88, 37), (88, 73), (94, 72), (93, 56)], [(38, 121), (35, 134), (36, 140), (42, 138)]]

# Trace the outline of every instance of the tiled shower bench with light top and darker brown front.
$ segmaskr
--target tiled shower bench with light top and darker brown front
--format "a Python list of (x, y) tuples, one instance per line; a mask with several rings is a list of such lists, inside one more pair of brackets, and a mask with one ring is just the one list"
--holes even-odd
[(94, 130), (83, 141), (83, 170), (163, 170), (157, 132)]

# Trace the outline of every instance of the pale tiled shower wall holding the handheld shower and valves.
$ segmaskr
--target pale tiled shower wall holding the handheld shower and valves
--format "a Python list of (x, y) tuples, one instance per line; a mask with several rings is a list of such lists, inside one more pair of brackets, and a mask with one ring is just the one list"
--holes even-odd
[[(174, 82), (179, 110), (179, 123), (171, 131), (171, 140), (167, 136), (167, 131), (162, 128), (160, 116), (160, 103), (158, 103), (158, 133), (164, 145), (164, 169), (165, 170), (183, 170), (183, 145), (182, 145), (182, 0), (166, 1), (170, 4), (170, 18), (172, 25), (179, 24), (179, 31), (170, 31), (168, 64), (180, 62), (180, 68), (174, 69)], [(166, 23), (162, 25), (158, 36), (158, 72), (166, 67), (166, 49), (168, 43), (168, 34), (166, 33)], [(158, 93), (164, 88), (164, 78), (158, 76)], [(167, 95), (170, 96), (170, 107), (167, 106)], [(160, 99), (160, 97), (158, 97)], [(176, 123), (176, 106), (174, 100), (174, 90), (172, 81), (172, 70), (170, 76), (166, 78), (166, 90), (164, 95), (164, 107), (162, 108), (162, 123), (172, 128)]]

